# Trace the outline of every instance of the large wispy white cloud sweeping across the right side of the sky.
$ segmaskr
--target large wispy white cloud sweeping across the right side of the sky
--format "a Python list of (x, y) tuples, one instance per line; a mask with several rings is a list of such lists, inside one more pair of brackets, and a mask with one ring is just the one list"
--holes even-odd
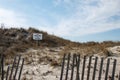
[[(113, 21), (109, 19), (115, 15), (120, 16), (120, 0), (55, 0), (58, 5), (61, 3), (71, 4), (67, 8), (73, 13), (69, 18), (59, 21), (56, 28), (50, 29), (59, 36), (82, 36), (95, 34), (112, 29), (120, 28), (120, 18)], [(76, 4), (76, 5), (75, 5)]]

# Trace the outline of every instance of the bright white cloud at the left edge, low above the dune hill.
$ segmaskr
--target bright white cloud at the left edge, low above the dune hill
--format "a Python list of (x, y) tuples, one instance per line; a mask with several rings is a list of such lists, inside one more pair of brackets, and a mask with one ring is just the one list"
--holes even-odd
[(0, 8), (0, 23), (7, 27), (25, 27), (26, 19), (18, 12)]

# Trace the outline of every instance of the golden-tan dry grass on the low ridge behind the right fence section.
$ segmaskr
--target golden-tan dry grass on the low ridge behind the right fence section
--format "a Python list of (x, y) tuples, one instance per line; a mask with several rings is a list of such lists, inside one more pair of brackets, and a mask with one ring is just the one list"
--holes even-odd
[(60, 52), (61, 55), (66, 53), (78, 53), (81, 56), (90, 56), (93, 54), (99, 54), (101, 56), (110, 56), (107, 50), (108, 47), (120, 46), (120, 42), (104, 41), (98, 42), (87, 42), (79, 44), (69, 44), (65, 46), (64, 50)]

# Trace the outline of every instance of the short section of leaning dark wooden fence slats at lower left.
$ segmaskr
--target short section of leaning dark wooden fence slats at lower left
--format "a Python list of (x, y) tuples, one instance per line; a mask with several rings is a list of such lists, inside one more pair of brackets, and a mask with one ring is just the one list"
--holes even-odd
[(7, 72), (5, 72), (4, 68), (4, 56), (0, 56), (0, 76), (1, 80), (20, 80), (24, 59), (21, 59), (21, 56), (16, 56), (14, 58), (13, 64), (7, 66)]

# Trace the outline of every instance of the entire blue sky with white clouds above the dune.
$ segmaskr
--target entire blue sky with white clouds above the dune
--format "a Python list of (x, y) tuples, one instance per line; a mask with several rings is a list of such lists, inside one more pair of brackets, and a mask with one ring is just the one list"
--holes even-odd
[(0, 0), (0, 24), (77, 42), (120, 41), (120, 0)]

